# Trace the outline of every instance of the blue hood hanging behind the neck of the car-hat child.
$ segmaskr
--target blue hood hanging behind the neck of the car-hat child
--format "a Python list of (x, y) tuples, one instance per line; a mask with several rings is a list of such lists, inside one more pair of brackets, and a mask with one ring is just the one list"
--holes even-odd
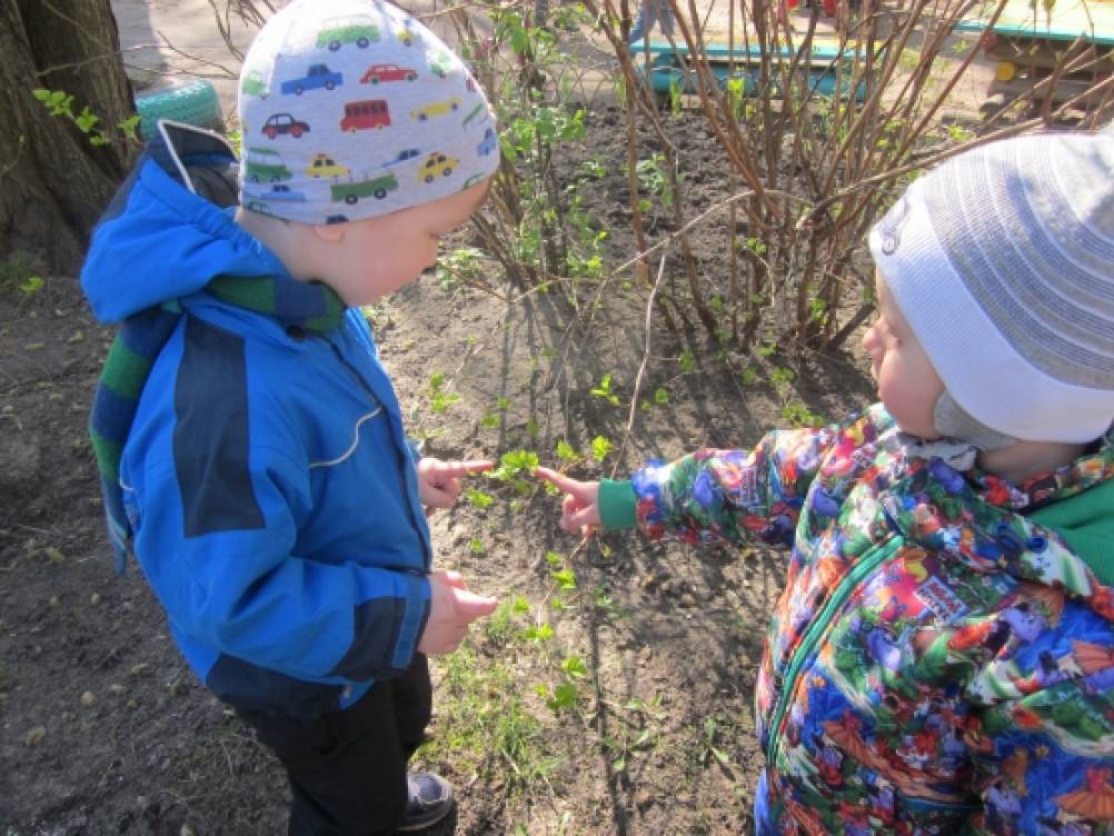
[(215, 276), (286, 275), (233, 220), (236, 155), (218, 135), (163, 120), (92, 234), (81, 288), (102, 322), (202, 290)]

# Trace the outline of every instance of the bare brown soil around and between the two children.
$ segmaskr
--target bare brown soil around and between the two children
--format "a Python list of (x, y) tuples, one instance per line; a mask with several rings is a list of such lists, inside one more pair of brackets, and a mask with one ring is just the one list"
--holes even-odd
[[(588, 191), (586, 208), (617, 231), (613, 259), (632, 252), (619, 232), (628, 224), (618, 124), (606, 108), (588, 118), (588, 146), (610, 174)], [(676, 129), (697, 161), (687, 194), (711, 200), (722, 185), (714, 169), (700, 174), (698, 159), (713, 140), (683, 119)], [(561, 164), (576, 171), (579, 161)], [(723, 272), (723, 241), (710, 224), (693, 242), (709, 278)], [(680, 262), (671, 257), (667, 271), (680, 292)], [(605, 436), (618, 449), (643, 359), (641, 292), (613, 282), (603, 304), (586, 310), (575, 315), (559, 293), (512, 304), (448, 293), (427, 276), (371, 319), (429, 454), (529, 449), (555, 465), (558, 440), (586, 450)], [(50, 279), (29, 298), (11, 286), (0, 293), (0, 835), (282, 833), (287, 789), (277, 764), (185, 667), (141, 573), (113, 573), (85, 430), (110, 338), (72, 279)], [(682, 352), (694, 367), (677, 361)], [(792, 368), (793, 397), (827, 419), (871, 397), (861, 366), (843, 356), (754, 358), (760, 373), (749, 386), (739, 375), (746, 358), (727, 360), (695, 328), (655, 330), (639, 399), (663, 388), (668, 402), (635, 410), (618, 459), (570, 473), (595, 478), (614, 464), (625, 474), (649, 457), (755, 443), (781, 420), (780, 396), (765, 382), (771, 363)], [(460, 396), (444, 412), (430, 408), (436, 371)], [(619, 407), (590, 393), (605, 373)], [(509, 402), (501, 411), (499, 398)], [(491, 414), (494, 427), (483, 420)], [(497, 751), (420, 752), (457, 787), (457, 833), (749, 832), (761, 761), (752, 686), (782, 556), (697, 554), (634, 535), (579, 545), (557, 531), (555, 497), (477, 487), (496, 503), (461, 503), (431, 521), (438, 561), (502, 601), (522, 596), (530, 609), (515, 616), (519, 632), (553, 625), (545, 648), (477, 630), (468, 651), (477, 670), (515, 673), (509, 688), (540, 722), (529, 745), (553, 765), (525, 781)], [(575, 572), (575, 591), (558, 593), (548, 552)], [(588, 675), (576, 710), (555, 713), (535, 686), (556, 686), (568, 655), (584, 659)], [(434, 664), (442, 709), (456, 699), (446, 671), (446, 661)], [(442, 710), (430, 733), (451, 739), (465, 721)]]

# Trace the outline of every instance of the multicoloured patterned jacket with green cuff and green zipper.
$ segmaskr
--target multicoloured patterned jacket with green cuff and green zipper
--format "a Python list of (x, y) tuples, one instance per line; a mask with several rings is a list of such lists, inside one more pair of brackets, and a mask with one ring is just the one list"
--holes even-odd
[(1020, 486), (907, 460), (877, 406), (652, 464), (600, 506), (653, 539), (792, 547), (759, 833), (1114, 834), (1112, 477), (1114, 434)]

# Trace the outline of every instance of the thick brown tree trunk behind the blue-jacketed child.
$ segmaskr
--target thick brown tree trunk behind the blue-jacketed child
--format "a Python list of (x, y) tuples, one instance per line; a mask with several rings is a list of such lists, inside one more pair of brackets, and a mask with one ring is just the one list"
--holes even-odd
[[(135, 113), (109, 0), (0, 0), (0, 261), (40, 256), (74, 275), (92, 227), (138, 150), (117, 125)], [(36, 88), (99, 117), (90, 134), (53, 116)], [(90, 136), (104, 132), (107, 144)]]

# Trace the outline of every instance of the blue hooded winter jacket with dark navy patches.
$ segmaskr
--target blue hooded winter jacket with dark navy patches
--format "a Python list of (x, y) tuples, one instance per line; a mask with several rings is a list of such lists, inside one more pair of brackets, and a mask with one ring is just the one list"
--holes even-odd
[(219, 274), (289, 275), (231, 207), (192, 193), (228, 163), (156, 140), (81, 283), (102, 321), (183, 312), (120, 464), (135, 553), (178, 647), (225, 701), (313, 717), (410, 665), (429, 614), (429, 528), (361, 312), (287, 332), (205, 292)]

